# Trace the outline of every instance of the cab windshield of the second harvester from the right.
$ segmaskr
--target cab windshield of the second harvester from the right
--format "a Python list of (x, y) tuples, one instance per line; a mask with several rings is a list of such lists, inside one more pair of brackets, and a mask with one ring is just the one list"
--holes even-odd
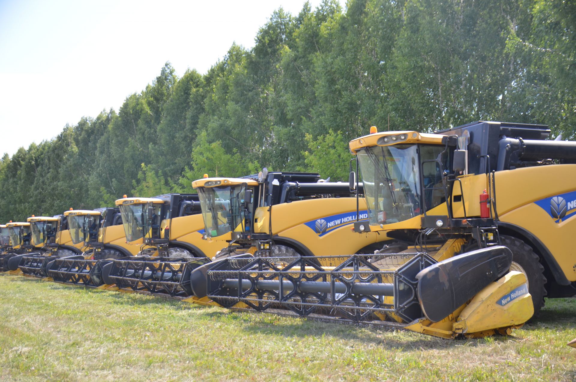
[(232, 232), (244, 221), (246, 185), (200, 187), (200, 208), (208, 237)]

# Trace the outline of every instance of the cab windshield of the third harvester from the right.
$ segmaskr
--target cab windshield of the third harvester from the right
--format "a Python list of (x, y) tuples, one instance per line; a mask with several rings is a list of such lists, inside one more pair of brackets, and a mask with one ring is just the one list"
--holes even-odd
[[(122, 215), (124, 233), (126, 234), (126, 241), (128, 242), (141, 239), (145, 235), (150, 237), (151, 229), (160, 227), (161, 204), (121, 204), (119, 207), (120, 215)], [(153, 207), (150, 222), (147, 220), (148, 207)]]

